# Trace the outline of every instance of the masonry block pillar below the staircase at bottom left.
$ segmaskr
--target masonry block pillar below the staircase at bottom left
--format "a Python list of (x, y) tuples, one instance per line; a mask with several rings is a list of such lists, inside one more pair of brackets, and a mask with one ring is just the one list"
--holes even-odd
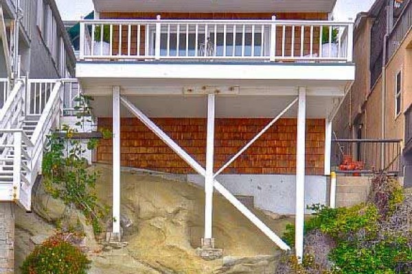
[(14, 273), (14, 203), (0, 203), (0, 274)]

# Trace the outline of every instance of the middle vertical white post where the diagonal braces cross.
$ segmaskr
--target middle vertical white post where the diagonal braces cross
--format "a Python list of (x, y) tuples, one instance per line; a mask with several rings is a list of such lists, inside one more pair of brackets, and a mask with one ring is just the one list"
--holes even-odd
[(212, 240), (213, 190), (214, 190), (214, 126), (215, 126), (215, 95), (207, 95), (207, 145), (206, 145), (206, 176), (205, 176), (205, 238), (203, 247), (214, 248)]

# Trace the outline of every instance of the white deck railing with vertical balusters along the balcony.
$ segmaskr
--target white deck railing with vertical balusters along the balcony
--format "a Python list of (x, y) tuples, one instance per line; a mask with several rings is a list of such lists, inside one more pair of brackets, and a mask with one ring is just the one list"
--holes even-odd
[(352, 62), (352, 37), (334, 21), (84, 20), (80, 60)]

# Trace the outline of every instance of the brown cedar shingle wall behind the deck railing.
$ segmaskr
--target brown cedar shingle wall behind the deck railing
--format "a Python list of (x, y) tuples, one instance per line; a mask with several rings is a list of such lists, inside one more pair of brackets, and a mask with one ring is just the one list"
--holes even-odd
[[(171, 13), (171, 12), (102, 12), (100, 18), (140, 18), (140, 19), (153, 19), (160, 14), (163, 19), (266, 19), (272, 18), (273, 13)], [(310, 13), (276, 13), (277, 20), (328, 20), (328, 14), (320, 12)], [(130, 28), (130, 54), (137, 55), (137, 26)], [(313, 52), (319, 53), (319, 27), (313, 29)], [(142, 25), (140, 29), (140, 55), (144, 55), (145, 51), (145, 27)], [(122, 54), (128, 53), (128, 29), (125, 25), (122, 27)], [(113, 54), (119, 53), (119, 27), (113, 26)], [(286, 51), (285, 55), (291, 55), (292, 47), (292, 28), (287, 27), (285, 32)], [(276, 35), (276, 54), (282, 55), (282, 27), (277, 27)], [(300, 55), (301, 53), (301, 28), (295, 27), (295, 53), (294, 55)], [(304, 55), (310, 54), (310, 27), (305, 28), (304, 32)]]

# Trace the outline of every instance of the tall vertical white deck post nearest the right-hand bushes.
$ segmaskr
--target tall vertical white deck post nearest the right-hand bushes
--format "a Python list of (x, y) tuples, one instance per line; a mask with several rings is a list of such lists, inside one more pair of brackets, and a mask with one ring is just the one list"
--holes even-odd
[(296, 151), (296, 219), (295, 247), (299, 262), (304, 257), (305, 221), (305, 143), (306, 143), (306, 88), (299, 87), (299, 107), (297, 110), (297, 151)]

